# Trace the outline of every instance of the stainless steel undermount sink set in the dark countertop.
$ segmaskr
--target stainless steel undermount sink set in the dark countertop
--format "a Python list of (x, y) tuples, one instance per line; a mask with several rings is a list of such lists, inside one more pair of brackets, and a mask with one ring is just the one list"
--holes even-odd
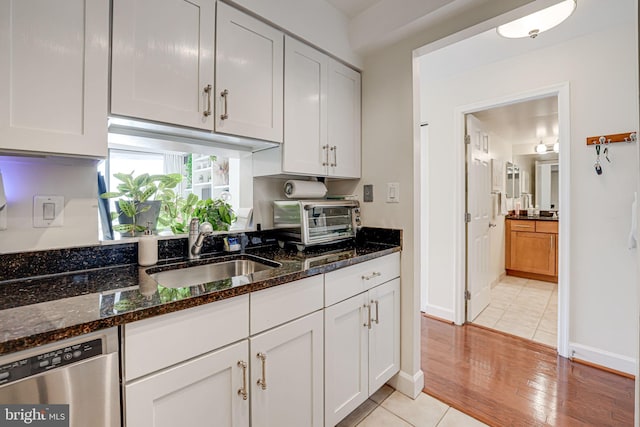
[[(184, 288), (218, 280), (248, 276), (249, 274), (275, 267), (276, 265), (269, 265), (251, 259), (236, 259), (233, 261), (213, 262), (211, 264), (160, 271), (151, 273), (149, 276), (158, 282), (159, 285), (166, 288)], [(245, 280), (244, 282), (248, 283), (249, 281)], [(238, 284), (240, 283), (241, 281), (239, 281)]]

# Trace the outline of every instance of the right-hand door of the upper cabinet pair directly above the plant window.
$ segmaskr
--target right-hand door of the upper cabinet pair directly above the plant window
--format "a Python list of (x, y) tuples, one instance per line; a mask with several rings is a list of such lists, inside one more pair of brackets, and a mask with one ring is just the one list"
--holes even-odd
[(224, 3), (217, 18), (216, 131), (282, 142), (283, 34)]

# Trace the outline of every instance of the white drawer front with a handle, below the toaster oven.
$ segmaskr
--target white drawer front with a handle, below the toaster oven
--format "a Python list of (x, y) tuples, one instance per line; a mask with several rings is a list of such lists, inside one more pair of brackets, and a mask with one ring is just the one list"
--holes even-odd
[(325, 307), (400, 277), (400, 253), (332, 271), (324, 276)]

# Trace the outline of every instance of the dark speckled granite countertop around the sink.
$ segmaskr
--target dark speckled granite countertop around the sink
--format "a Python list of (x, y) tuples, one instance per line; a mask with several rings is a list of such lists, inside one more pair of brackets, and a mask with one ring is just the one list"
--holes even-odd
[[(0, 354), (266, 289), (400, 250), (399, 242), (353, 242), (304, 254), (272, 245), (245, 254), (164, 261), (153, 267), (116, 265), (0, 281)], [(163, 287), (149, 276), (234, 257), (262, 258), (279, 266), (185, 288)]]

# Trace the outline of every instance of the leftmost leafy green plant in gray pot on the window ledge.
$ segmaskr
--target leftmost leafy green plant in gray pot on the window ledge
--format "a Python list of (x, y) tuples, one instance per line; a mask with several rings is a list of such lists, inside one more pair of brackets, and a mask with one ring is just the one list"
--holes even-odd
[(165, 175), (142, 175), (115, 173), (113, 176), (121, 181), (117, 191), (111, 191), (100, 195), (103, 199), (118, 198), (116, 212), (111, 213), (111, 219), (118, 219), (118, 224), (113, 229), (120, 233), (135, 235), (144, 231), (147, 224), (155, 231), (160, 215), (162, 200), (156, 200), (156, 195), (165, 196), (165, 192), (171, 191), (181, 181), (179, 173)]

